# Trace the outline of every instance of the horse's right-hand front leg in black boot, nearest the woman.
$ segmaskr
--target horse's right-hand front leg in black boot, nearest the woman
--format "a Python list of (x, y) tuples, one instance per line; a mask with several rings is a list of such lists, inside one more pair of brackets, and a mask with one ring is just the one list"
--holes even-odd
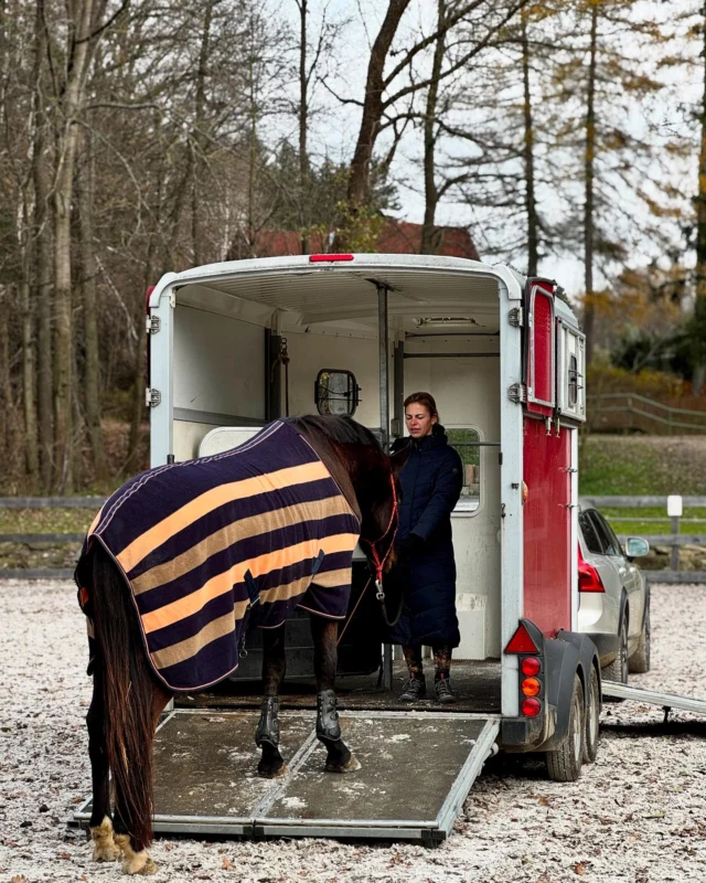
[(339, 624), (321, 616), (311, 617), (314, 673), (317, 677), (317, 736), (327, 748), (327, 773), (352, 773), (361, 765), (341, 738), (336, 711), (335, 669)]

